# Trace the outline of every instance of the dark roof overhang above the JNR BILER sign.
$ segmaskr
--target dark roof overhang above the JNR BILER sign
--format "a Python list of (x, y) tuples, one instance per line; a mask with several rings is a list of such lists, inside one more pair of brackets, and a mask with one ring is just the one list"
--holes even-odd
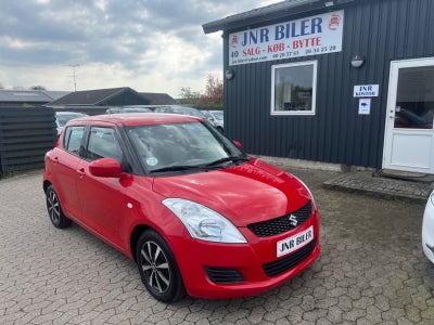
[(202, 25), (205, 34), (218, 30), (231, 30), (250, 25), (266, 23), (301, 13), (355, 2), (356, 0), (286, 0), (267, 6), (254, 9), (241, 14), (227, 16)]

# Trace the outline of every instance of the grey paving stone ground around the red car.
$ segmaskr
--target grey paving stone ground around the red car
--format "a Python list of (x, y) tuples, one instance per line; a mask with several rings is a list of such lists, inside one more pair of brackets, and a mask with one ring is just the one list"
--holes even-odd
[[(51, 226), (41, 171), (0, 180), (0, 324), (434, 324), (433, 265), (420, 249), (423, 200), (367, 195), (366, 174), (289, 170), (316, 197), (320, 258), (256, 297), (174, 304), (153, 299), (117, 250), (75, 224)], [(365, 192), (323, 187), (337, 176)], [(406, 190), (372, 183), (375, 191)]]

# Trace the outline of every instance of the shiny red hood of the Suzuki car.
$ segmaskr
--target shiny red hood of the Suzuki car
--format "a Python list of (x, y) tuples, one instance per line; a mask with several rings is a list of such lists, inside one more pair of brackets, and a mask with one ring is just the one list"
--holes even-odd
[(310, 199), (296, 178), (256, 158), (219, 170), (155, 178), (153, 190), (207, 206), (238, 226), (284, 216)]

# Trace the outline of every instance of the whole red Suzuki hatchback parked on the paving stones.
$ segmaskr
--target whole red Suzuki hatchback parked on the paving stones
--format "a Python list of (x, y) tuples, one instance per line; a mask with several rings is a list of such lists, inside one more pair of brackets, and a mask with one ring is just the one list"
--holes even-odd
[(319, 216), (302, 181), (240, 147), (191, 116), (72, 120), (46, 156), (49, 217), (133, 259), (161, 301), (256, 295), (318, 257)]

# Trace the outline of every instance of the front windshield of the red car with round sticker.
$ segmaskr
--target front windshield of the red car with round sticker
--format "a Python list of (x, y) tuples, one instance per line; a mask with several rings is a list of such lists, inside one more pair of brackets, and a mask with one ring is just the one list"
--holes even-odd
[(151, 172), (200, 170), (248, 160), (230, 140), (200, 121), (131, 127), (128, 133)]

